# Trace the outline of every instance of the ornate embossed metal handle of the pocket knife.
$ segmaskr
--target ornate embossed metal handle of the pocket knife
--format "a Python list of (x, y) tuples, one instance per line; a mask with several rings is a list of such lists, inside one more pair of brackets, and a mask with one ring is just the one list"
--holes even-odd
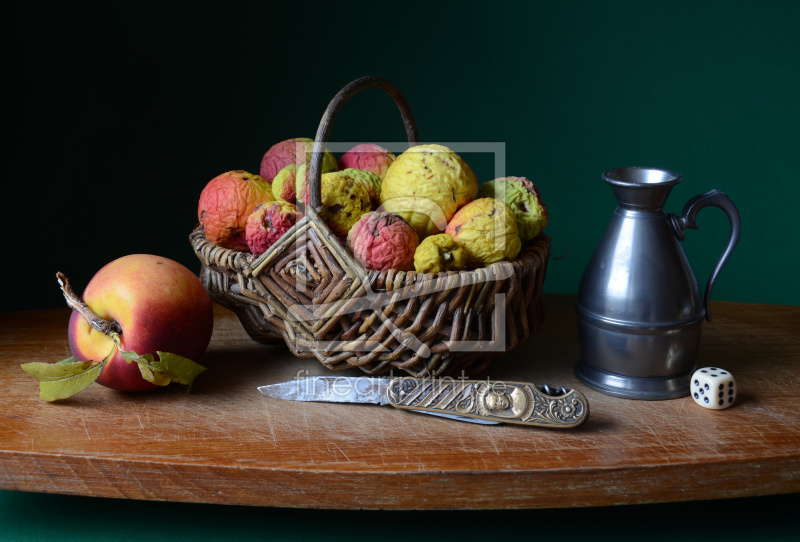
[(586, 420), (589, 403), (581, 392), (560, 388), (555, 393), (530, 382), (401, 377), (389, 383), (386, 399), (395, 408), (537, 427), (575, 427)]

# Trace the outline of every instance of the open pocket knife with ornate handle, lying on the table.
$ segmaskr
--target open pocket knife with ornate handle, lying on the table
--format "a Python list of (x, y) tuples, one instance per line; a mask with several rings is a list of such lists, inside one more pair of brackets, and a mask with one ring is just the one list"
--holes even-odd
[(391, 405), (483, 424), (563, 429), (582, 424), (589, 402), (578, 390), (531, 382), (453, 378), (309, 376), (258, 388), (290, 401)]

